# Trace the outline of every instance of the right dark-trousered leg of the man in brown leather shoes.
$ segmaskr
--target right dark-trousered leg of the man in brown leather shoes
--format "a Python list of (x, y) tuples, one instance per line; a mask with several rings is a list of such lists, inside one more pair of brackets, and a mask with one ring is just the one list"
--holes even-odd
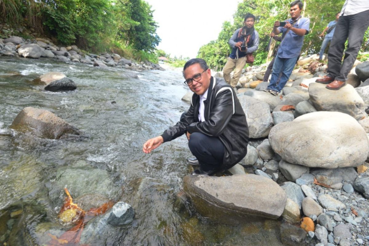
[(354, 66), (356, 57), (363, 43), (365, 31), (369, 26), (369, 10), (358, 14), (348, 15), (349, 31), (348, 45), (345, 51), (345, 58), (341, 66), (341, 71), (335, 77), (335, 80), (346, 81), (347, 75)]

